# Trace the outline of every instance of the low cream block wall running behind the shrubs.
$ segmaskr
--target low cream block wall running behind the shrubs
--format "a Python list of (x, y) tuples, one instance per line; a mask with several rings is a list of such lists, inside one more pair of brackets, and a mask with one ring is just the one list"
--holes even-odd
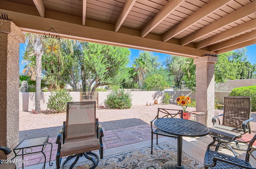
[[(104, 100), (110, 92), (99, 92), (99, 105), (104, 105)], [(158, 104), (163, 103), (164, 93), (166, 91), (136, 91), (132, 94), (132, 105), (145, 105), (146, 102), (153, 104), (154, 100), (158, 100)], [(170, 102), (176, 102), (178, 96), (190, 96), (191, 99), (196, 99), (196, 93), (192, 91), (168, 91), (172, 96)], [(223, 96), (228, 96), (230, 92), (215, 92), (215, 98), (218, 98), (223, 103)], [(41, 110), (47, 110), (46, 103), (48, 102), (50, 92), (41, 92)], [(74, 102), (80, 101), (80, 92), (70, 92)], [(19, 110), (32, 111), (35, 109), (35, 92), (20, 92), (19, 93)]]

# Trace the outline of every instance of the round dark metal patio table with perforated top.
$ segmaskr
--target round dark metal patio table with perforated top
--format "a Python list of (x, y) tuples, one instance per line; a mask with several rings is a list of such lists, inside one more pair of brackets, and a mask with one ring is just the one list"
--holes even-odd
[(201, 137), (209, 134), (210, 130), (205, 125), (186, 120), (183, 118), (160, 118), (154, 122), (155, 127), (168, 134), (177, 136), (177, 163), (167, 161), (163, 165), (163, 169), (182, 169), (182, 136), (185, 137)]

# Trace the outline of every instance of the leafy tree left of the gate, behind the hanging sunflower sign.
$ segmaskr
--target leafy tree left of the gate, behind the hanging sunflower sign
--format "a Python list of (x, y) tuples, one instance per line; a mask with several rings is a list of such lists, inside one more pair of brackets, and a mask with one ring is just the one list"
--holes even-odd
[[(60, 45), (58, 52), (46, 53), (44, 60), (48, 80), (54, 86), (62, 84), (70, 85), (74, 91), (80, 91), (78, 82), (81, 80), (81, 60), (82, 60), (82, 42), (62, 39), (58, 42), (56, 39), (46, 42), (51, 46)], [(63, 86), (63, 85), (62, 85)]]

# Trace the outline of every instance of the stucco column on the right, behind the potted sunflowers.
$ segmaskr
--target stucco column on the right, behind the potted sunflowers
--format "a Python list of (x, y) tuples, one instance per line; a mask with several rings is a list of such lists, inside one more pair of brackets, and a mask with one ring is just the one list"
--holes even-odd
[(194, 59), (196, 65), (196, 111), (205, 112), (207, 126), (212, 126), (214, 116), (214, 64), (217, 57), (204, 56)]

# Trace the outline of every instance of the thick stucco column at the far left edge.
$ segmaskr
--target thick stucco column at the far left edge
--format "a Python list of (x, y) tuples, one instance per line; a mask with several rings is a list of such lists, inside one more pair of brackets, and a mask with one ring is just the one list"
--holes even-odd
[[(13, 22), (0, 19), (0, 145), (10, 149), (19, 143), (20, 43), (24, 33)], [(1, 152), (0, 158), (6, 155)]]

